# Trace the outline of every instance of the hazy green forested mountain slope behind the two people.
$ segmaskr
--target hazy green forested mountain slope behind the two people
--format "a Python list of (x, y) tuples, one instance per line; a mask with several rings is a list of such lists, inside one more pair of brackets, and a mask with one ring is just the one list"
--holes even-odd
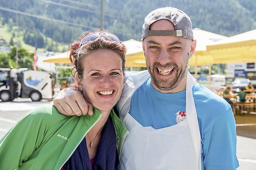
[[(185, 11), (194, 28), (225, 36), (256, 29), (256, 0), (104, 0), (104, 28), (121, 40), (140, 40), (145, 16), (167, 5)], [(9, 9), (44, 17), (19, 14), (20, 31), (26, 33), (25, 43), (42, 48), (49, 46), (47, 38), (69, 44), (83, 31), (100, 27), (100, 0), (1, 0), (3, 25), (16, 23), (17, 14), (6, 11)], [(29, 42), (31, 39), (38, 43)]]

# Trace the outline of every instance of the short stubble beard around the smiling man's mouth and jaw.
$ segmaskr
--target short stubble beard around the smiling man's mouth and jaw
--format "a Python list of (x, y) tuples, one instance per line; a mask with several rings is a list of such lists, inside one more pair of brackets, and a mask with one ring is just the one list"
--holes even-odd
[[(166, 63), (165, 65), (161, 65), (160, 63), (155, 62), (152, 68), (148, 66), (148, 71), (150, 73), (151, 80), (153, 81), (154, 85), (156, 85), (157, 88), (159, 88), (160, 90), (172, 90), (178, 87), (180, 82), (185, 77), (187, 68), (188, 68), (188, 63), (189, 63), (189, 54), (187, 53), (187, 61), (184, 69), (178, 68), (176, 63)], [(171, 82), (168, 82), (168, 79), (165, 79), (165, 80), (159, 79), (154, 73), (154, 68), (156, 66), (161, 66), (161, 68), (167, 68), (167, 67), (173, 66), (173, 68), (176, 69), (176, 75), (172, 76), (172, 78), (175, 77), (175, 79)], [(163, 83), (163, 82), (166, 82), (166, 83)]]

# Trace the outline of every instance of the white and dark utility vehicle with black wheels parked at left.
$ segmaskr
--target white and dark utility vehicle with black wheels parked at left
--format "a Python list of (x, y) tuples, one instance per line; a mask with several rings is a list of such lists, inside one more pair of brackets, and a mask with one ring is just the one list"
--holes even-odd
[(50, 74), (27, 68), (0, 68), (0, 99), (31, 98), (32, 101), (52, 98)]

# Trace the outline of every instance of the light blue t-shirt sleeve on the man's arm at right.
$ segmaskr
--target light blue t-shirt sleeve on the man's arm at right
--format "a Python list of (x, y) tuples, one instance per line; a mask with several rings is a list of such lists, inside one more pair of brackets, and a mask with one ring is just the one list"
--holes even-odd
[(204, 134), (203, 161), (205, 170), (235, 170), (236, 122), (232, 109), (221, 114), (213, 123), (211, 130)]

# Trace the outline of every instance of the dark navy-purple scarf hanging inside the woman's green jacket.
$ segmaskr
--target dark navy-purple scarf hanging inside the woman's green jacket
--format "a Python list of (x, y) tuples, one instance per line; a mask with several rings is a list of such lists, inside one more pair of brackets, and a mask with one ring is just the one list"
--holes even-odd
[(117, 143), (113, 122), (108, 117), (97, 148), (93, 167), (91, 166), (86, 141), (83, 140), (65, 163), (64, 170), (117, 170)]

